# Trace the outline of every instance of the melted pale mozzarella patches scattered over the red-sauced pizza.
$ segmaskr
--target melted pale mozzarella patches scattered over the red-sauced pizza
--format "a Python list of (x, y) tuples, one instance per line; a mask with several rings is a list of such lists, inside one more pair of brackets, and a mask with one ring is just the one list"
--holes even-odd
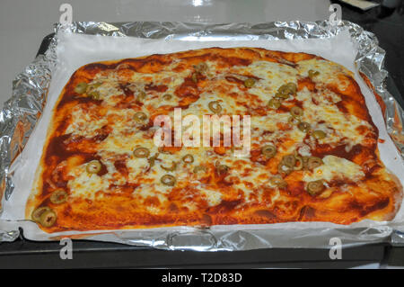
[[(173, 63), (172, 65), (177, 65)], [(209, 68), (215, 68), (215, 63), (206, 62)], [(192, 71), (184, 70), (181, 72), (172, 72), (171, 67), (155, 74), (133, 73), (130, 76), (131, 85), (129, 88), (133, 91), (145, 89), (146, 84), (166, 85), (167, 91), (157, 93), (150, 91), (146, 93), (145, 104), (136, 111), (133, 109), (120, 109), (115, 105), (118, 103), (117, 95), (123, 94), (119, 88), (121, 77), (119, 72), (110, 71), (108, 76), (96, 76), (94, 82), (101, 81), (102, 85), (96, 88), (101, 94), (103, 100), (102, 105), (108, 107), (107, 112), (101, 115), (99, 119), (92, 119), (90, 114), (75, 109), (72, 112), (73, 123), (67, 128), (66, 133), (73, 132), (79, 135), (93, 136), (97, 134), (97, 130), (101, 129), (106, 123), (112, 124), (110, 135), (98, 144), (98, 155), (101, 161), (105, 163), (108, 169), (106, 175), (88, 175), (85, 172), (85, 166), (78, 166), (74, 170), (75, 179), (70, 180), (68, 187), (73, 196), (83, 196), (94, 198), (95, 193), (108, 192), (110, 183), (114, 184), (140, 184), (134, 191), (133, 196), (141, 202), (146, 201), (150, 197), (157, 197), (159, 202), (167, 202), (167, 195), (172, 191), (171, 186), (161, 183), (163, 175), (172, 175), (176, 178), (176, 187), (190, 186), (198, 190), (198, 194), (205, 199), (209, 206), (215, 206), (223, 201), (224, 193), (220, 190), (213, 190), (205, 184), (198, 181), (198, 176), (193, 175), (192, 170), (195, 166), (212, 164), (216, 161), (230, 167), (229, 175), (226, 180), (233, 181), (231, 189), (242, 191), (246, 202), (250, 201), (252, 195), (260, 197), (259, 186), (269, 185), (268, 179), (270, 173), (268, 169), (259, 164), (250, 161), (248, 157), (233, 157), (230, 152), (222, 156), (215, 154), (213, 148), (181, 148), (174, 154), (159, 153), (158, 147), (154, 145), (153, 133), (156, 128), (148, 131), (139, 130), (139, 125), (134, 121), (135, 112), (145, 112), (150, 116), (155, 109), (162, 105), (170, 105), (175, 107), (180, 99), (174, 95), (174, 91), (182, 83), (186, 76)], [(328, 61), (307, 60), (299, 63), (297, 68), (289, 67), (278, 63), (267, 61), (256, 61), (247, 67), (230, 67), (224, 69), (222, 74), (208, 75), (211, 82), (203, 89), (198, 100), (190, 103), (187, 109), (182, 110), (182, 118), (187, 115), (196, 115), (203, 122), (203, 115), (211, 115), (209, 103), (218, 102), (222, 106), (222, 114), (242, 115), (250, 112), (252, 108), (267, 109), (267, 115), (251, 116), (251, 144), (256, 147), (262, 147), (271, 143), (277, 145), (278, 152), (288, 154), (297, 150), (302, 156), (311, 156), (311, 147), (303, 144), (305, 133), (298, 130), (295, 126), (287, 129), (280, 129), (288, 125), (290, 117), (289, 112), (276, 112), (268, 110), (268, 100), (274, 97), (277, 89), (281, 85), (287, 83), (297, 84), (299, 74), (306, 76), (309, 69), (320, 71), (320, 75), (314, 78), (316, 84), (331, 83), (336, 80), (338, 73), (347, 72), (342, 67), (335, 64), (329, 64)], [(255, 85), (248, 89), (246, 93), (237, 84), (230, 83), (226, 80), (227, 75), (235, 75), (240, 79), (248, 76), (259, 78)], [(341, 81), (341, 80), (338, 80)], [(341, 86), (346, 83), (338, 83)], [(320, 86), (319, 86), (320, 89)], [(312, 103), (313, 94), (307, 89), (300, 91), (295, 99), (303, 102), (303, 118), (302, 121), (311, 123), (315, 130), (324, 130), (328, 137), (320, 139), (320, 143), (339, 142), (341, 139), (347, 140), (352, 146), (361, 143), (364, 136), (358, 134), (356, 128), (361, 125), (370, 127), (370, 125), (356, 118), (351, 114), (344, 114), (338, 110), (335, 103), (341, 101), (338, 94), (334, 94), (326, 89), (321, 90), (322, 94), (317, 98), (319, 104)], [(162, 94), (171, 94), (172, 97), (168, 101), (162, 100)], [(289, 102), (293, 97), (285, 100)], [(168, 112), (173, 119), (173, 112)], [(319, 121), (325, 123), (319, 124)], [(173, 122), (173, 121), (172, 121)], [(186, 127), (182, 127), (185, 132)], [(267, 133), (263, 133), (267, 131)], [(284, 144), (285, 141), (292, 144)], [(202, 141), (201, 141), (202, 143)], [(159, 157), (154, 162), (154, 166), (150, 166), (150, 162), (146, 158), (136, 158), (133, 150), (136, 147), (148, 148), (150, 156), (159, 153)], [(191, 154), (194, 162), (191, 165), (184, 165), (181, 161), (182, 157)], [(119, 171), (113, 165), (117, 157), (124, 157), (128, 170), (128, 176), (125, 178), (119, 174)], [(323, 179), (330, 181), (336, 178), (349, 178), (351, 180), (359, 180), (364, 176), (360, 166), (348, 161), (344, 158), (326, 156), (323, 158), (324, 165), (315, 168), (312, 172), (304, 172), (303, 180), (309, 182), (312, 180)], [(242, 164), (241, 164), (242, 162)], [(162, 166), (171, 166), (176, 163), (177, 167), (173, 171), (167, 171)], [(119, 176), (120, 175), (120, 176)], [(257, 194), (255, 194), (257, 193)], [(278, 191), (274, 192), (272, 204), (281, 201)], [(183, 206), (189, 210), (197, 209), (192, 198), (184, 199)], [(147, 210), (154, 213), (159, 211), (159, 206), (147, 206)]]

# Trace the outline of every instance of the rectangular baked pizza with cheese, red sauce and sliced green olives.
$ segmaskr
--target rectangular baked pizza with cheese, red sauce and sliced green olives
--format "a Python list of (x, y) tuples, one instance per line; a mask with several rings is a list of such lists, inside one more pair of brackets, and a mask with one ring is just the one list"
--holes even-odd
[[(229, 142), (219, 122), (218, 144), (208, 133), (210, 145), (170, 145), (178, 131), (155, 123), (179, 110), (239, 116), (227, 127), (249, 132)], [(402, 186), (378, 140), (354, 74), (316, 55), (209, 48), (91, 63), (57, 100), (25, 217), (46, 232), (392, 220)]]

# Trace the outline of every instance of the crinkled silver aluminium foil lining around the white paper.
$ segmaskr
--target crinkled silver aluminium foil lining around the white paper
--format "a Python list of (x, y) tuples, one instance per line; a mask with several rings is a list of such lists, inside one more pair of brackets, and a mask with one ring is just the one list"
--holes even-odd
[[(278, 39), (323, 39), (333, 37), (348, 29), (352, 40), (358, 45), (356, 66), (373, 85), (373, 92), (382, 97), (386, 108), (383, 113), (391, 138), (404, 157), (404, 111), (386, 90), (383, 69), (385, 52), (378, 46), (373, 33), (364, 31), (352, 22), (267, 22), (260, 24), (228, 23), (202, 24), (183, 22), (75, 22), (69, 25), (56, 24), (55, 30), (66, 33), (85, 33), (101, 36), (135, 36), (166, 40), (278, 40)], [(55, 67), (57, 37), (55, 36), (45, 55), (40, 55), (13, 81), (13, 95), (0, 112), (0, 193), (7, 201), (13, 193), (13, 170), (11, 164), (18, 160), (31, 131), (40, 119), (47, 103), (48, 85)], [(14, 165), (13, 165), (14, 166)], [(0, 242), (13, 241), (18, 230), (0, 231)], [(303, 225), (304, 226), (304, 225)], [(373, 228), (330, 228), (299, 230), (243, 229), (224, 231), (220, 229), (184, 228), (182, 231), (153, 230), (130, 233), (130, 231), (98, 232), (80, 237), (101, 241), (120, 242), (136, 246), (162, 249), (192, 249), (198, 251), (248, 250), (265, 247), (329, 247), (330, 238), (343, 238), (345, 246), (376, 242), (404, 244), (404, 233), (391, 226)], [(57, 237), (53, 238), (57, 239)]]

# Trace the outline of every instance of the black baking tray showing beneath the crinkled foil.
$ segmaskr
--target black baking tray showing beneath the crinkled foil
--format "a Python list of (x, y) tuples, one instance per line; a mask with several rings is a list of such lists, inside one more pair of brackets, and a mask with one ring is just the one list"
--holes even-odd
[[(54, 33), (46, 36), (37, 56), (47, 49)], [(391, 87), (395, 87), (389, 79)], [(389, 85), (388, 82), (388, 85)], [(391, 93), (402, 103), (397, 88)], [(119, 243), (89, 240), (73, 241), (73, 260), (60, 259), (59, 242), (27, 240), (20, 229), (14, 242), (0, 245), (0, 268), (68, 268), (68, 267), (173, 267), (173, 268), (348, 268), (389, 262), (392, 247), (386, 243), (344, 247), (342, 259), (329, 258), (328, 248), (265, 248), (235, 252), (166, 251), (152, 247), (135, 247)], [(395, 248), (400, 249), (400, 248)], [(404, 249), (404, 248), (403, 248)], [(396, 251), (397, 253), (397, 251)]]

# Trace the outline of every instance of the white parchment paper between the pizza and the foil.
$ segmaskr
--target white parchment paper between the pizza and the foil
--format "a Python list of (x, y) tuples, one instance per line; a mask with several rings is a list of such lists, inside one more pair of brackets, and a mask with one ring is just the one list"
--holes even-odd
[[(134, 37), (107, 37), (93, 36), (84, 34), (57, 34), (57, 67), (53, 72), (53, 77), (48, 90), (48, 103), (44, 109), (43, 115), (38, 122), (35, 130), (22, 151), (22, 154), (14, 162), (12, 170), (14, 171), (13, 183), (14, 190), (10, 199), (4, 202), (4, 212), (0, 218), (0, 229), (2, 226), (15, 228), (22, 227), (24, 236), (32, 240), (49, 240), (58, 236), (92, 234), (91, 239), (103, 241), (122, 241), (118, 238), (130, 238), (136, 234), (136, 238), (150, 238), (151, 232), (154, 232), (154, 240), (162, 235), (166, 235), (167, 230), (192, 230), (192, 228), (162, 228), (162, 229), (132, 229), (132, 230), (108, 230), (106, 234), (102, 231), (69, 231), (63, 233), (47, 234), (38, 228), (36, 223), (24, 220), (25, 203), (34, 180), (37, 166), (40, 162), (41, 152), (46, 134), (48, 123), (52, 115), (52, 109), (66, 85), (70, 76), (78, 67), (95, 61), (113, 60), (119, 58), (136, 58), (150, 54), (164, 54), (188, 49), (202, 49), (209, 47), (257, 47), (264, 49), (282, 50), (290, 52), (311, 53), (323, 58), (337, 62), (349, 70), (355, 72), (356, 82), (360, 85), (364, 94), (366, 105), (372, 116), (373, 122), (379, 129), (380, 139), (379, 151), (382, 162), (391, 172), (396, 175), (404, 186), (404, 163), (400, 157), (397, 148), (387, 134), (385, 123), (382, 117), (382, 111), (376, 102), (373, 93), (364, 84), (361, 76), (356, 71), (355, 57), (356, 47), (351, 41), (347, 31), (340, 32), (338, 36), (328, 39), (306, 39), (306, 40), (204, 40), (190, 38), (189, 40), (150, 40)], [(329, 222), (290, 222), (278, 224), (262, 225), (237, 225), (237, 226), (214, 226), (213, 231), (222, 232), (228, 230), (240, 229), (354, 229), (354, 228), (372, 228), (400, 225), (404, 222), (404, 207), (401, 206), (394, 220), (391, 222), (376, 222), (373, 220), (363, 220), (342, 226)], [(114, 236), (115, 235), (115, 236)], [(152, 236), (153, 237), (153, 236)], [(158, 241), (158, 240), (157, 240)], [(137, 241), (138, 242), (138, 241)], [(150, 244), (149, 244), (150, 245)], [(156, 243), (158, 246), (158, 242)]]

